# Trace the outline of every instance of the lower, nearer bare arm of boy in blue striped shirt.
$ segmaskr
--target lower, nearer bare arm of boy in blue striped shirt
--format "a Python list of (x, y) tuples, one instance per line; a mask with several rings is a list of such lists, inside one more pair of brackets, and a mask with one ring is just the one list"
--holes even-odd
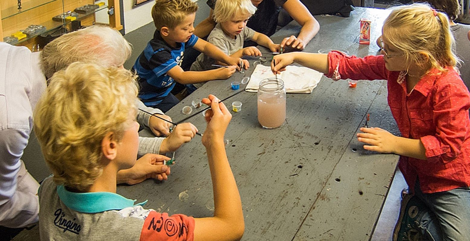
[(235, 73), (236, 68), (236, 66), (232, 65), (206, 71), (184, 71), (179, 65), (177, 65), (168, 70), (166, 74), (170, 75), (170, 77), (178, 83), (191, 84), (210, 80), (227, 79)]

